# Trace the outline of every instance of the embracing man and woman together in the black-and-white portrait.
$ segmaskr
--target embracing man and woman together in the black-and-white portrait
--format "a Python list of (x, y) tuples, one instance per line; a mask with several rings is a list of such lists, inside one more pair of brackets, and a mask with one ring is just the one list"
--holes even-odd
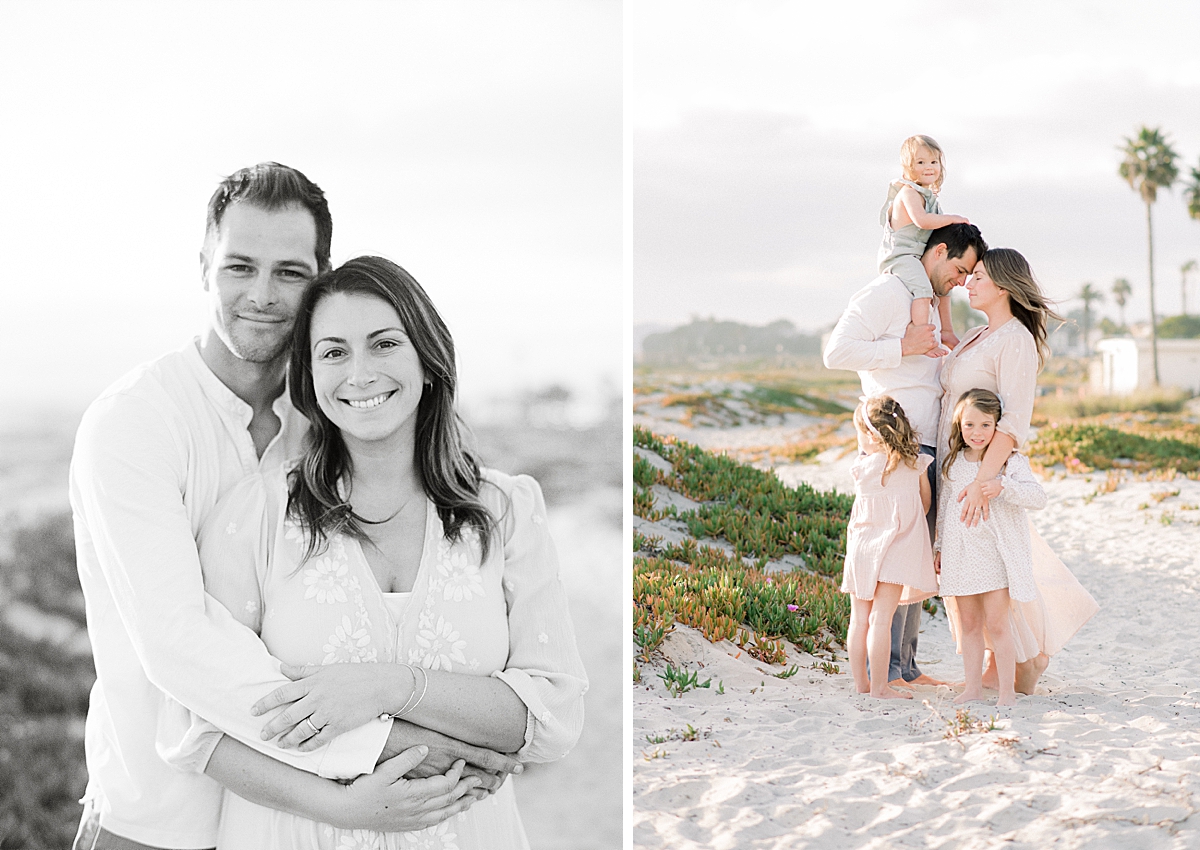
[(79, 426), (76, 850), (524, 848), (505, 779), (580, 735), (541, 490), (466, 447), (420, 285), (331, 233), (293, 168), (223, 180), (203, 336)]

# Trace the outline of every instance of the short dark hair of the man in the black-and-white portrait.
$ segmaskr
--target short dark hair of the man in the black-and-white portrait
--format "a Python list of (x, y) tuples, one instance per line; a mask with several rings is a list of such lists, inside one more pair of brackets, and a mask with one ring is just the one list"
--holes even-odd
[(281, 166), (278, 162), (259, 162), (257, 166), (241, 168), (222, 180), (217, 191), (209, 198), (205, 234), (220, 229), (224, 211), (234, 202), (253, 204), (264, 210), (278, 210), (292, 204), (299, 204), (308, 210), (317, 226), (317, 270), (329, 271), (334, 220), (329, 215), (329, 204), (320, 186), (295, 168)]

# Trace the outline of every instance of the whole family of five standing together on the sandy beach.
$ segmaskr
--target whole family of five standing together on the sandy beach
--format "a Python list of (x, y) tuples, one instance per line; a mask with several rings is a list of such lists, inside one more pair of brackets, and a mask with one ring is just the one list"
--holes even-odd
[[(1046, 503), (1021, 449), (1058, 316), (1020, 253), (941, 211), (934, 139), (906, 139), (901, 166), (881, 212), (880, 276), (851, 298), (823, 357), (857, 371), (864, 396), (841, 586), (850, 668), (858, 693), (881, 699), (944, 684), (917, 666), (920, 603), (940, 594), (962, 656), (955, 702), (990, 688), (1014, 705), (1098, 610), (1026, 516)], [(961, 340), (956, 286), (988, 317)]]

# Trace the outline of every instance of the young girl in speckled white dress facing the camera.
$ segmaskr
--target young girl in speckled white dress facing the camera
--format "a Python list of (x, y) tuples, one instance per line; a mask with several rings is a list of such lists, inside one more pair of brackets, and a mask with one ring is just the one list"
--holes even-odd
[(954, 406), (949, 450), (942, 461), (943, 483), (938, 490), (943, 499), (937, 511), (935, 562), (942, 595), (954, 597), (958, 604), (961, 634), (956, 638), (966, 687), (954, 700), (956, 704), (984, 699), (985, 627), (1000, 676), (996, 705), (1016, 702), (1013, 687), (1016, 651), (1009, 600), (1032, 601), (1037, 597), (1025, 511), (1044, 508), (1046, 495), (1025, 456), (1014, 451), (1001, 474), (983, 484), (991, 499), (990, 515), (983, 522), (967, 526), (961, 513), (948, 502), (976, 480), (984, 453), (996, 436), (1001, 413), (1000, 397), (995, 393), (979, 388), (964, 393)]

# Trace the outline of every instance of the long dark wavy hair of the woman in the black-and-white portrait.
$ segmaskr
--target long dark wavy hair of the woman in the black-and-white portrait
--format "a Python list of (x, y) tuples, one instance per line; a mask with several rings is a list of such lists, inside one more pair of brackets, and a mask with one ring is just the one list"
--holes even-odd
[(335, 293), (378, 298), (400, 316), (427, 382), (416, 407), (413, 463), (446, 538), (457, 541), (464, 527), (473, 528), (486, 558), (497, 519), (479, 498), (484, 483), (479, 463), (463, 445), (463, 425), (454, 407), (454, 340), (420, 283), (382, 257), (356, 257), (320, 275), (308, 287), (296, 315), (288, 385), (292, 403), (308, 418), (311, 427), (304, 456), (288, 477), (288, 515), (306, 532), (305, 558), (324, 549), (332, 534), (365, 539), (364, 525), (371, 523), (350, 507), (352, 459), (341, 431), (320, 409), (313, 389), (312, 317), (322, 300)]

